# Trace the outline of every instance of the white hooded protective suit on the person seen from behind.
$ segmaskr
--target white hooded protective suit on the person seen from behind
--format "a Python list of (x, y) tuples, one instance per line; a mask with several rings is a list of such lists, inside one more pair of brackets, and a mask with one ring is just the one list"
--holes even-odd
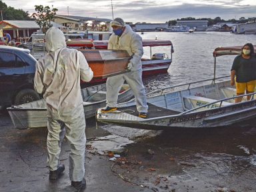
[(61, 142), (66, 135), (70, 145), (69, 176), (82, 181), (85, 175), (85, 114), (80, 79), (91, 81), (93, 71), (83, 56), (68, 49), (61, 30), (51, 27), (46, 35), (47, 55), (39, 59), (35, 71), (35, 90), (47, 104), (47, 151), (50, 171), (59, 166)]

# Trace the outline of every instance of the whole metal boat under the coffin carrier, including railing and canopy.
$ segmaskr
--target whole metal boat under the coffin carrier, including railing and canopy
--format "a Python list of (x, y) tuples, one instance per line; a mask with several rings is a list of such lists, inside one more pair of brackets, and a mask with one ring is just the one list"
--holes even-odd
[[(255, 49), (256, 49), (256, 45)], [(215, 57), (237, 55), (241, 47), (219, 47)], [(216, 69), (216, 62), (215, 68)], [(215, 73), (214, 73), (215, 74)], [(138, 129), (209, 128), (225, 127), (256, 117), (256, 93), (250, 93), (249, 101), (235, 103), (236, 89), (231, 87), (230, 76), (187, 83), (149, 93), (147, 119), (138, 117), (135, 101), (118, 105), (115, 113), (101, 113), (97, 110), (97, 121)], [(218, 83), (216, 83), (219, 81)], [(208, 83), (207, 83), (208, 82)], [(202, 85), (204, 83), (204, 85)], [(152, 95), (153, 94), (153, 95)], [(247, 95), (242, 95), (246, 97)], [(241, 96), (240, 96), (241, 97)], [(127, 112), (128, 111), (128, 112)]]

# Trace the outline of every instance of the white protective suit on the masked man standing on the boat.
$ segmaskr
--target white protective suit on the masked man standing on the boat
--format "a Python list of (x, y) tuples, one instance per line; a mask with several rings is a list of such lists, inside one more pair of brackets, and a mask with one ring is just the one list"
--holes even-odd
[(130, 85), (135, 95), (137, 111), (147, 113), (147, 101), (145, 96), (145, 87), (142, 82), (142, 64), (143, 46), (141, 37), (133, 32), (129, 25), (125, 25), (125, 31), (121, 37), (114, 33), (109, 38), (107, 49), (126, 50), (129, 55), (133, 55), (130, 63), (132, 69), (129, 73), (107, 78), (107, 106), (117, 107), (118, 92), (124, 81)]

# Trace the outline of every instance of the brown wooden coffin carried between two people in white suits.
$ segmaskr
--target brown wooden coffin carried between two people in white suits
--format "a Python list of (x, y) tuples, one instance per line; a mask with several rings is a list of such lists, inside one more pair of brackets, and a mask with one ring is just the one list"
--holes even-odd
[(79, 49), (85, 55), (89, 67), (93, 70), (94, 79), (127, 73), (127, 64), (131, 56), (124, 50)]

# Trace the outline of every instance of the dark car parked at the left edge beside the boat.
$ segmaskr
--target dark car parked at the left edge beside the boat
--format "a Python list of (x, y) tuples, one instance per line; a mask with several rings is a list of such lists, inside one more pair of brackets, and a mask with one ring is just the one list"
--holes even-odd
[(29, 49), (0, 45), (0, 108), (40, 99), (33, 87), (36, 62)]

